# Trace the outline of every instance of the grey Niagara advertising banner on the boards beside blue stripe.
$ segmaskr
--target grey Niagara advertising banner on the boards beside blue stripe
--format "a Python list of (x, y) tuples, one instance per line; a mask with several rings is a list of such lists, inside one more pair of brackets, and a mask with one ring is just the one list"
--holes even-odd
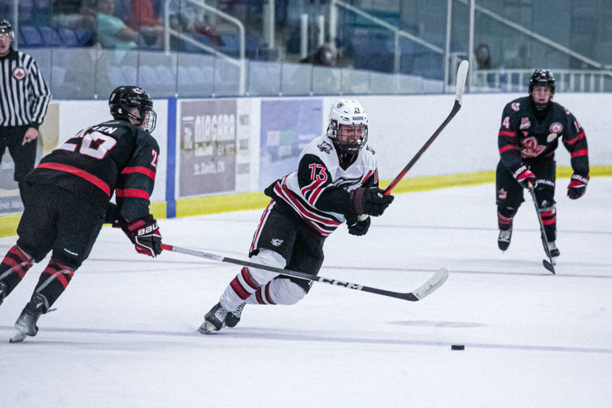
[(183, 100), (179, 198), (236, 188), (236, 100)]

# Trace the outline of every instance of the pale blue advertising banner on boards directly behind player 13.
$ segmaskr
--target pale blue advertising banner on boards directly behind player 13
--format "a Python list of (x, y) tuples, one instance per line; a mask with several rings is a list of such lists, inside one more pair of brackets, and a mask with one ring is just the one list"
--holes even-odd
[(304, 146), (321, 134), (319, 98), (261, 101), (259, 190), (297, 170)]

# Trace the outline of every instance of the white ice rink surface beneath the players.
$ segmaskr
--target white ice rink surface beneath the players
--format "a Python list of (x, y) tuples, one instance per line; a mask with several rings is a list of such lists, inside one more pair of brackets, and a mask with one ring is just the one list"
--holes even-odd
[[(8, 342), (47, 260), (0, 306), (0, 407), (612, 407), (612, 179), (576, 201), (567, 182), (556, 276), (527, 193), (506, 253), (494, 185), (402, 194), (366, 236), (332, 234), (319, 275), (408, 292), (446, 267), (438, 291), (406, 302), (314, 283), (209, 336), (196, 328), (239, 267), (146, 258), (105, 227), (37, 336)], [(170, 245), (247, 259), (260, 216), (159, 224)]]

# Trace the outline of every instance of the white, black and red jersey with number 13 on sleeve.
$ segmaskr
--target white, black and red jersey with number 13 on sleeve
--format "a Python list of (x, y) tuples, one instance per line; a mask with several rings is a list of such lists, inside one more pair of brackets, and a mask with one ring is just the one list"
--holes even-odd
[(350, 191), (378, 186), (375, 152), (367, 144), (344, 169), (327, 135), (302, 150), (296, 171), (266, 188), (266, 195), (293, 208), (307, 224), (328, 236), (351, 213)]

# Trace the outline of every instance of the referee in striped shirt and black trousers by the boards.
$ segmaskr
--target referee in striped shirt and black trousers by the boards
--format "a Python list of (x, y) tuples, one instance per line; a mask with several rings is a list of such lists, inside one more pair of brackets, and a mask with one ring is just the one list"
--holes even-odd
[(9, 21), (0, 20), (0, 161), (8, 147), (21, 195), (21, 180), (34, 168), (38, 128), (51, 92), (34, 59), (13, 50), (14, 36)]

